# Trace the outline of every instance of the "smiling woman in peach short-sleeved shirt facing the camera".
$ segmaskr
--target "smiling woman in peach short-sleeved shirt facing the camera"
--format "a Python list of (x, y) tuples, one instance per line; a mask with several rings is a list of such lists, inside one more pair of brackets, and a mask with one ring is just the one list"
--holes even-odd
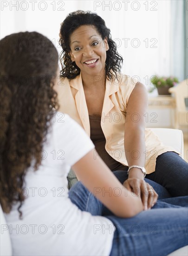
[(95, 158), (102, 157), (111, 171), (123, 170), (114, 174), (133, 192), (141, 190), (143, 204), (149, 182), (145, 175), (167, 189), (164, 193), (152, 183), (160, 198), (188, 195), (188, 163), (145, 128), (147, 91), (121, 74), (123, 59), (104, 20), (96, 13), (73, 12), (62, 22), (59, 35), (60, 111), (91, 137)]

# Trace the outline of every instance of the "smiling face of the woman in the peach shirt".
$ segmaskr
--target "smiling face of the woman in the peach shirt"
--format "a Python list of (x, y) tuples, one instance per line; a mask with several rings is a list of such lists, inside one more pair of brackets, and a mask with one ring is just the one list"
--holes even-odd
[(75, 61), (82, 74), (105, 74), (107, 38), (102, 39), (96, 28), (91, 25), (78, 27), (70, 36), (71, 61)]

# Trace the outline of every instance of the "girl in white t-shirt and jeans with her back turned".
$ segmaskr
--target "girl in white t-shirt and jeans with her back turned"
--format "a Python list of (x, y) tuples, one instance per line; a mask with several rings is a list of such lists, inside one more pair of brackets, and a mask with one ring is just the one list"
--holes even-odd
[[(93, 157), (84, 130), (54, 112), (58, 72), (57, 50), (45, 36), (0, 40), (0, 204), (13, 255), (156, 256), (186, 245), (186, 198), (171, 205), (153, 196), (153, 209), (143, 211), (140, 196)], [(78, 206), (68, 196), (71, 166), (90, 191), (80, 182), (71, 189)], [(107, 209), (111, 216), (102, 216)]]

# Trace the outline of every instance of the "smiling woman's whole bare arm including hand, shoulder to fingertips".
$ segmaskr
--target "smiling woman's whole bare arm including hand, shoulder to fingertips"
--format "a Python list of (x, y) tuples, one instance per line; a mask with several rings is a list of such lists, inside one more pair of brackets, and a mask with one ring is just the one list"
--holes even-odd
[[(130, 94), (125, 122), (124, 148), (129, 166), (145, 166), (145, 114), (148, 108), (148, 95), (145, 86), (137, 83)], [(144, 209), (151, 208), (157, 201), (155, 190), (144, 181), (144, 175), (139, 168), (130, 169), (128, 180), (123, 183), (133, 192), (140, 193)], [(149, 192), (150, 191), (150, 192)]]

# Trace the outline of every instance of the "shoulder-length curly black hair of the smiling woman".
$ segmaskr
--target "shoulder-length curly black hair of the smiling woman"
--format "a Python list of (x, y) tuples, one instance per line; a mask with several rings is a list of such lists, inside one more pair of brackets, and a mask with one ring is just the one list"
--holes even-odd
[(69, 13), (65, 20), (61, 23), (59, 44), (63, 50), (60, 53), (60, 63), (62, 67), (60, 76), (67, 77), (68, 79), (74, 79), (78, 74), (80, 74), (80, 68), (76, 65), (75, 61), (71, 61), (70, 36), (78, 27), (82, 25), (94, 26), (103, 40), (105, 37), (107, 38), (109, 50), (106, 52), (106, 76), (109, 79), (115, 77), (113, 72), (120, 73), (123, 58), (120, 54), (118, 54), (117, 45), (111, 39), (110, 29), (106, 27), (105, 21), (98, 16), (97, 13), (91, 13), (90, 11), (84, 12), (82, 10)]

